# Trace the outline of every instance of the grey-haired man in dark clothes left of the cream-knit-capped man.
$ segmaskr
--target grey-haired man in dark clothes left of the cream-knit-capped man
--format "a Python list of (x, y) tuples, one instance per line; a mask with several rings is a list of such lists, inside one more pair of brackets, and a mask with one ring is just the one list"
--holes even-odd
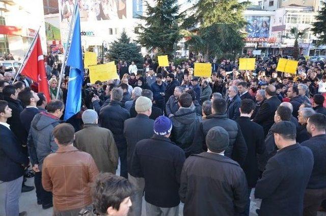
[(107, 106), (100, 110), (99, 124), (101, 127), (112, 131), (114, 140), (118, 147), (121, 167), (120, 176), (128, 178), (127, 173), (127, 144), (123, 136), (123, 123), (130, 118), (129, 112), (122, 108), (120, 102), (123, 97), (123, 91), (120, 88), (113, 88), (111, 92), (111, 101)]

